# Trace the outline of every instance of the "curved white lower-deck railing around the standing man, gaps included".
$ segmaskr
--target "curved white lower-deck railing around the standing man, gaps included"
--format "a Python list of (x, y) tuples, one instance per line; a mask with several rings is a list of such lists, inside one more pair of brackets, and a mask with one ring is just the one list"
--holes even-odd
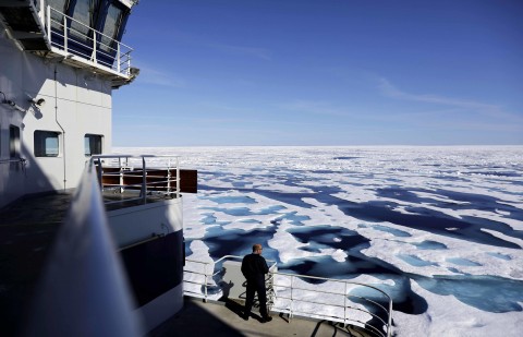
[[(218, 300), (224, 293), (220, 280), (226, 260), (243, 256), (226, 255), (216, 262), (185, 258), (184, 294), (204, 301)], [(269, 262), (273, 270), (276, 262)], [(392, 299), (378, 287), (345, 279), (301, 274), (269, 272), (266, 278), (267, 305), (270, 311), (342, 323), (363, 328), (378, 337), (392, 333)]]

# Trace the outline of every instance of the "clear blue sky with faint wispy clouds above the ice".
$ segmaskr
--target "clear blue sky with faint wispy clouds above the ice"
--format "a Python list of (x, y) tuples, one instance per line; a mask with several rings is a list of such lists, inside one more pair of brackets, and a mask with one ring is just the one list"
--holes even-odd
[(113, 146), (523, 145), (521, 0), (141, 0)]

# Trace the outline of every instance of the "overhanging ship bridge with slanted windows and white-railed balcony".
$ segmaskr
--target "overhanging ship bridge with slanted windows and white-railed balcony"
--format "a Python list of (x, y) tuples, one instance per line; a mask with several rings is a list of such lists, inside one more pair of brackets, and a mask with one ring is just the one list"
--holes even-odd
[(133, 49), (121, 43), (137, 0), (0, 0), (0, 21), (21, 50), (107, 76), (134, 80)]

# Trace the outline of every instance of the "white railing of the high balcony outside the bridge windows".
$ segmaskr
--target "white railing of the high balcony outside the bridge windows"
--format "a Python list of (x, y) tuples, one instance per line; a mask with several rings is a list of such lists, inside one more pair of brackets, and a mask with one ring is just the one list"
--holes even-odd
[(52, 51), (64, 58), (77, 56), (95, 68), (131, 76), (131, 47), (50, 5), (46, 10), (46, 28)]

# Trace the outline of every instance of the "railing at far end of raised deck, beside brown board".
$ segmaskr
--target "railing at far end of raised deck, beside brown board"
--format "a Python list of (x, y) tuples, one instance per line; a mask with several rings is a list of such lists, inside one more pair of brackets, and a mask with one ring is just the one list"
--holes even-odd
[(180, 197), (179, 157), (95, 155), (90, 161), (96, 166), (101, 191), (118, 196), (111, 200), (105, 194), (106, 205), (136, 201), (146, 203), (150, 196)]

